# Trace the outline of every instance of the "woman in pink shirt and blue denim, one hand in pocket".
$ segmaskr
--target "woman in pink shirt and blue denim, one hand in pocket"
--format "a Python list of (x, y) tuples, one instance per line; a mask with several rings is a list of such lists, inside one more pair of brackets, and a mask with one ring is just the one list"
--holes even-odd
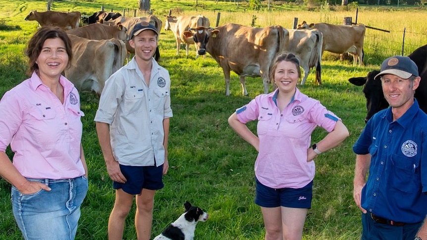
[[(80, 97), (61, 73), (71, 41), (42, 27), (28, 43), (31, 77), (0, 101), (0, 175), (12, 184), (15, 220), (26, 240), (73, 240), (88, 191)], [(13, 163), (5, 153), (10, 144)]]

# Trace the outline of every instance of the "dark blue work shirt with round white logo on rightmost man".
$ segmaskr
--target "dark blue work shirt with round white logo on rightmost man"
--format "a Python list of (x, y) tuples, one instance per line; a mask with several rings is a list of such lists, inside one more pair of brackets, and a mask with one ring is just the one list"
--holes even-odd
[(396, 121), (391, 107), (376, 113), (353, 145), (356, 154), (372, 155), (362, 189), (368, 212), (404, 223), (427, 214), (427, 115), (418, 101)]

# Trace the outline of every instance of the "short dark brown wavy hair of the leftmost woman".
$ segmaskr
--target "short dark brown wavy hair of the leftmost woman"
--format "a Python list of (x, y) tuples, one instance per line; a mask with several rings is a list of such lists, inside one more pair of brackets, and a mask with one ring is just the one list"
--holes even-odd
[(28, 41), (28, 47), (25, 49), (25, 54), (28, 56), (28, 71), (27, 74), (31, 76), (34, 71), (39, 70), (39, 65), (36, 63), (37, 58), (42, 51), (43, 45), (47, 39), (61, 39), (65, 44), (65, 51), (68, 54), (68, 65), (71, 65), (71, 57), (73, 51), (71, 48), (71, 40), (68, 38), (67, 33), (61, 28), (54, 26), (44, 26), (37, 30), (37, 32)]

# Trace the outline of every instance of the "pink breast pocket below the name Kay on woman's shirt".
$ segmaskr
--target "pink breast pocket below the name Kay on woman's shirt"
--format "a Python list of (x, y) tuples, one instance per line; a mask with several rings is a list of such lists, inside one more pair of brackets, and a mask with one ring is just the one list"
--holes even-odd
[(33, 133), (38, 144), (53, 144), (59, 141), (63, 135), (62, 129), (56, 117), (56, 112), (52, 108), (31, 109), (29, 114), (32, 119), (28, 121), (29, 131)]

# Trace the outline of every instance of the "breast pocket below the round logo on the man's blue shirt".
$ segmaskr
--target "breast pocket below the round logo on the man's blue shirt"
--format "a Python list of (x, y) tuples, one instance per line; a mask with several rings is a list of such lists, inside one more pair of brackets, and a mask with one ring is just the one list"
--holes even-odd
[(419, 189), (417, 175), (418, 163), (409, 157), (392, 154), (393, 171), (388, 174), (388, 182), (393, 189), (400, 192), (416, 192)]

